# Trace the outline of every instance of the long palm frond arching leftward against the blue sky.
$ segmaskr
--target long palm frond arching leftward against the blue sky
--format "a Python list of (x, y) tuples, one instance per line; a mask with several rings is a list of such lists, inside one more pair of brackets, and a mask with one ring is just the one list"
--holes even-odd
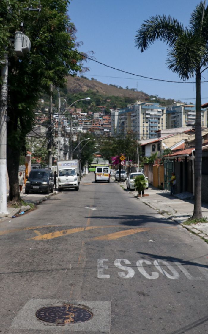
[(141, 52), (147, 49), (156, 39), (166, 42), (171, 47), (184, 30), (186, 29), (183, 25), (170, 16), (152, 16), (144, 21), (141, 28), (137, 30), (135, 44)]

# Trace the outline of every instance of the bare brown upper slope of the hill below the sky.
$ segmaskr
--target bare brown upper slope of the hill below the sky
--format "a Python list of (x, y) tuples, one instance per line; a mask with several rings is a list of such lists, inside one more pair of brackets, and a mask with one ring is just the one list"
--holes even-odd
[(67, 78), (67, 91), (71, 94), (93, 91), (99, 95), (104, 96), (128, 97), (138, 101), (149, 100), (149, 96), (143, 92), (134, 92), (131, 90), (117, 88), (114, 86), (106, 85), (105, 83), (102, 83), (100, 81), (88, 80), (78, 76), (69, 76)]

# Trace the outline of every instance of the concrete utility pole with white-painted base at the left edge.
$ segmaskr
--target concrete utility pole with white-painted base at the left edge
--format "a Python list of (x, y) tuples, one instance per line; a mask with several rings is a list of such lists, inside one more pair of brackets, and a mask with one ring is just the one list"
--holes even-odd
[(0, 213), (7, 213), (7, 94), (8, 56), (1, 69), (2, 87), (0, 94)]

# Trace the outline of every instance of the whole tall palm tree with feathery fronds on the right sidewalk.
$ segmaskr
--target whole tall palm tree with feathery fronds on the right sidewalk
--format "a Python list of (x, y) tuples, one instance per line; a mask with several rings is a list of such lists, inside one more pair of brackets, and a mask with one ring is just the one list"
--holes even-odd
[(135, 43), (143, 52), (156, 39), (166, 42), (168, 50), (167, 65), (183, 80), (196, 77), (196, 119), (195, 119), (195, 202), (193, 218), (202, 218), (201, 210), (201, 73), (208, 67), (208, 6), (201, 1), (196, 6), (189, 26), (184, 27), (177, 20), (156, 15), (142, 23), (137, 30)]

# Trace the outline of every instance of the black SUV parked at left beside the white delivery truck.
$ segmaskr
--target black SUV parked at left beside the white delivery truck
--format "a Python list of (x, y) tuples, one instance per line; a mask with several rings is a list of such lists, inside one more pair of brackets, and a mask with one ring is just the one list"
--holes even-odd
[(33, 169), (31, 170), (26, 184), (25, 193), (29, 191), (38, 191), (49, 194), (54, 191), (54, 174), (50, 169)]

